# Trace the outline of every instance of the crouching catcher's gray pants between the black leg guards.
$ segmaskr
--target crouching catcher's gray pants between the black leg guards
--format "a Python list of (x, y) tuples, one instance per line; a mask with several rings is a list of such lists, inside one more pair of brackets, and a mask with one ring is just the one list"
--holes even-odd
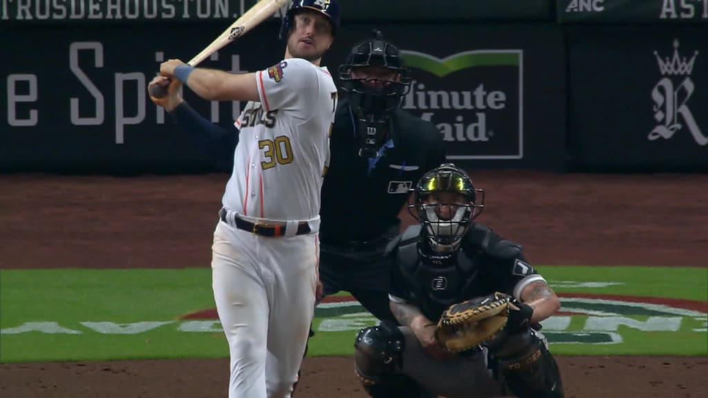
[(445, 360), (432, 358), (423, 351), (411, 328), (399, 327), (406, 339), (402, 372), (413, 377), (423, 388), (445, 398), (506, 397), (503, 383), (487, 369), (487, 351)]

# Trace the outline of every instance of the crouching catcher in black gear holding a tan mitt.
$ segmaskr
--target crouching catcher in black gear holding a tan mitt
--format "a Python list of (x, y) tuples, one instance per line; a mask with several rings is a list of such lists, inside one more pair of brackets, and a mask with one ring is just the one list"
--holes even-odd
[(560, 308), (519, 244), (473, 222), (484, 191), (453, 164), (428, 172), (397, 242), (390, 306), (355, 341), (355, 370), (374, 398), (562, 398), (539, 322)]

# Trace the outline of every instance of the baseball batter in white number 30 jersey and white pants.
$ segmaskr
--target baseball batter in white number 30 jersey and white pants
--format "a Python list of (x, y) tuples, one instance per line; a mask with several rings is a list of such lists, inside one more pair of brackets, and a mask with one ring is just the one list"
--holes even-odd
[(338, 24), (334, 1), (293, 1), (281, 30), (285, 59), (268, 69), (229, 74), (176, 59), (161, 64), (163, 76), (202, 98), (249, 101), (235, 122), (239, 143), (212, 245), (230, 398), (286, 398), (297, 382), (314, 312), (320, 191), (337, 105), (319, 64)]

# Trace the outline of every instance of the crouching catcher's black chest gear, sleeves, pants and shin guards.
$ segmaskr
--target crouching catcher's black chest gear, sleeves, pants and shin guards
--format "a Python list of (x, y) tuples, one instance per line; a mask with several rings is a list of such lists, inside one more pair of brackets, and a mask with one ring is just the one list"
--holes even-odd
[[(394, 249), (390, 298), (418, 307), (432, 322), (455, 303), (493, 292), (520, 299), (528, 284), (544, 280), (519, 244), (483, 224), (472, 224), (459, 250), (447, 254), (430, 250), (427, 239), (420, 225), (404, 232)], [(428, 356), (409, 327), (386, 322), (362, 329), (355, 347), (357, 373), (373, 398), (563, 397), (555, 360), (533, 329), (447, 360)]]

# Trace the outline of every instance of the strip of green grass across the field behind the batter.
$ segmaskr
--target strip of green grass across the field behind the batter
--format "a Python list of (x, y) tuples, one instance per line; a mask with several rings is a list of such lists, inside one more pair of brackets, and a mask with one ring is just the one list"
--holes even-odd
[[(707, 268), (541, 267), (540, 271), (559, 293), (708, 302)], [(561, 281), (573, 281), (574, 287)], [(618, 284), (591, 288), (577, 285), (587, 282)], [(586, 304), (588, 308), (592, 306), (592, 303)], [(199, 331), (185, 331), (186, 326), (195, 323), (181, 319), (185, 314), (214, 307), (210, 268), (0, 270), (0, 329), (3, 331), (0, 362), (224, 358), (228, 356), (227, 343), (216, 320), (204, 321), (200, 324), (204, 329)], [(616, 335), (621, 336), (622, 343), (555, 343), (578, 333), (582, 336), (597, 334), (583, 329), (588, 316), (577, 315), (571, 317), (564, 330), (544, 331), (549, 334), (552, 351), (561, 355), (708, 356), (704, 314), (692, 312), (684, 316), (661, 312), (663, 310), (647, 310), (642, 314), (637, 307), (630, 311), (622, 317), (635, 319), (640, 325), (648, 322), (649, 317), (656, 318), (652, 322), (675, 322), (670, 318), (678, 317), (680, 328), (641, 331), (618, 326)], [(317, 333), (310, 343), (309, 355), (352, 354), (358, 329), (376, 323), (370, 314), (361, 312), (360, 307), (354, 306), (336, 310), (318, 307), (318, 318), (314, 322)], [(70, 333), (8, 333), (19, 326), (28, 327), (27, 322), (53, 322), (62, 328), (59, 331)], [(106, 324), (89, 322), (109, 322), (108, 329)], [(118, 333), (139, 327), (143, 328), (139, 333)], [(606, 338), (608, 334), (598, 336)]]

